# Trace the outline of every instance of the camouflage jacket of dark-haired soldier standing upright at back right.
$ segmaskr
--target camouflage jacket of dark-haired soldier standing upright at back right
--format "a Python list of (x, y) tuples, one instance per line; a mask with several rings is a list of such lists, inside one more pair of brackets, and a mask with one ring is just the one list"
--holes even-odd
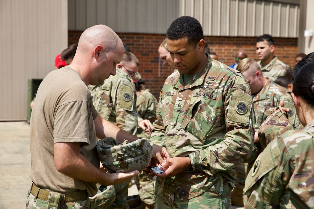
[(265, 66), (262, 66), (262, 60), (258, 61), (257, 64), (261, 67), (263, 75), (268, 77), (271, 81), (275, 81), (279, 76), (284, 76), (288, 70), (291, 70), (289, 65), (284, 64), (278, 60), (277, 56)]

